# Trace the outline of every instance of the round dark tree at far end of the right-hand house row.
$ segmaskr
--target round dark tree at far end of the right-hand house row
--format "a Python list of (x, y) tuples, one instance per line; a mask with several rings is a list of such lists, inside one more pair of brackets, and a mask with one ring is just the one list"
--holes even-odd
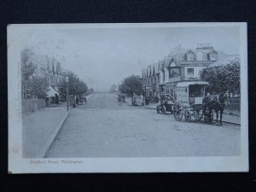
[(131, 75), (130, 77), (125, 78), (122, 84), (119, 85), (119, 91), (132, 97), (133, 94), (141, 95), (143, 91), (143, 84), (138, 76)]

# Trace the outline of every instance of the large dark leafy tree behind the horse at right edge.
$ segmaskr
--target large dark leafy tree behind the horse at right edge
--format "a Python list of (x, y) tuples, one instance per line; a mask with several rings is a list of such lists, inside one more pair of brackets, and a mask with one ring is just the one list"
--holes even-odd
[(230, 91), (240, 95), (240, 61), (238, 59), (221, 66), (207, 67), (201, 70), (200, 77), (209, 83), (212, 94)]

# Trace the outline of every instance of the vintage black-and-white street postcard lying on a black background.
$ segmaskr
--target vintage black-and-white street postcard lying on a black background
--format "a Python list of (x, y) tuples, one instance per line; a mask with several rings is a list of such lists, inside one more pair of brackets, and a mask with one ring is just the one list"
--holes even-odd
[(248, 172), (247, 23), (7, 31), (9, 173)]

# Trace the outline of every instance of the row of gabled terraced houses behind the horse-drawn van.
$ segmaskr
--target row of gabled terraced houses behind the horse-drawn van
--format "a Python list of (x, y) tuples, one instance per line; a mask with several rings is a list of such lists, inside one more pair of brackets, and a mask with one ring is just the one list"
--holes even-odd
[(226, 55), (211, 44), (197, 44), (195, 49), (183, 49), (180, 45), (162, 60), (143, 69), (143, 95), (158, 96), (164, 92), (176, 97), (177, 82), (200, 79), (205, 67), (227, 63), (238, 55)]

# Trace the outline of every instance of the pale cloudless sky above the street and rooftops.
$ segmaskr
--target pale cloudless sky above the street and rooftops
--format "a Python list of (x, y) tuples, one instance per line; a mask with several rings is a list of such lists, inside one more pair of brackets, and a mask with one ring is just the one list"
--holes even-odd
[(62, 68), (78, 74), (94, 90), (109, 90), (131, 74), (141, 75), (143, 67), (178, 45), (195, 49), (209, 43), (230, 55), (239, 55), (241, 46), (238, 26), (29, 26), (19, 34), (22, 46), (32, 47), (38, 55), (55, 56)]

